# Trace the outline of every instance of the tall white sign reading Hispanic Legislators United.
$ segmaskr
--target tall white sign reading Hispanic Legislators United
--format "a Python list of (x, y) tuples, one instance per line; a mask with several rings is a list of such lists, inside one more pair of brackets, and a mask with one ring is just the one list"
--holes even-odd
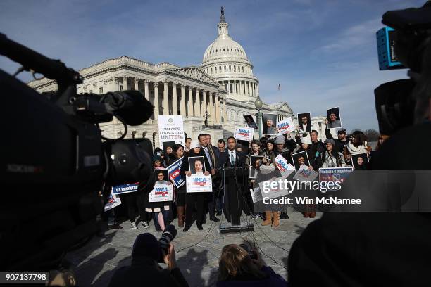
[(182, 146), (185, 145), (182, 115), (158, 116), (158, 145), (163, 149), (163, 143), (168, 141), (175, 141), (175, 144), (182, 144)]

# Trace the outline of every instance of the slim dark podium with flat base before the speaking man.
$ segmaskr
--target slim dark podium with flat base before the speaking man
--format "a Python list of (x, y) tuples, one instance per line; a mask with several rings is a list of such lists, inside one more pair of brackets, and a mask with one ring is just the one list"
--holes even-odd
[[(242, 203), (244, 203), (242, 186), (248, 191), (249, 167), (222, 167), (218, 170), (222, 179), (224, 194), (223, 212), (225, 212), (228, 223), (220, 224), (220, 234), (230, 232), (254, 231), (254, 225), (241, 222)], [(246, 176), (246, 177), (244, 177)]]

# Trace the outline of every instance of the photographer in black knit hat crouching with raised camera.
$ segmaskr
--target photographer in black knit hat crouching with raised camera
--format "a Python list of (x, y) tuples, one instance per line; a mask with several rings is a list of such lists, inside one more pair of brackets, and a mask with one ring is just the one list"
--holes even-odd
[[(132, 264), (120, 267), (112, 276), (109, 287), (115, 286), (189, 286), (177, 267), (175, 249), (170, 241), (177, 231), (168, 225), (159, 240), (154, 235), (139, 234), (133, 243)], [(163, 269), (158, 263), (165, 263)]]

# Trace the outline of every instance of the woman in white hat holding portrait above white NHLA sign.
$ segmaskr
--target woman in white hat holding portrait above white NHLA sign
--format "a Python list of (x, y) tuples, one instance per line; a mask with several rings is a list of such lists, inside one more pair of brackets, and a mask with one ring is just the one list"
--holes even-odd
[[(190, 162), (193, 163), (192, 167), (189, 166)], [(209, 168), (210, 164), (204, 151), (201, 150), (201, 145), (199, 141), (192, 141), (190, 144), (190, 151), (188, 151), (184, 158), (182, 159), (182, 165), (180, 174), (184, 181), (187, 181), (186, 177), (190, 177), (192, 175), (192, 171), (194, 174), (197, 172), (202, 173), (204, 175), (209, 175), (210, 173), (206, 170)], [(205, 202), (205, 193), (186, 193), (185, 195), (185, 227), (183, 231), (188, 231), (190, 227), (192, 227), (192, 215), (194, 204), (196, 203), (197, 215), (196, 215), (196, 226), (199, 230), (202, 230), (202, 222), (204, 221), (204, 202)]]

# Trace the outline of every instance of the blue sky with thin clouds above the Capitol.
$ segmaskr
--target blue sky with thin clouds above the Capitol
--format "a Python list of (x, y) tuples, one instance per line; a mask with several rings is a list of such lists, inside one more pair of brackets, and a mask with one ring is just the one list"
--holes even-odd
[[(312, 115), (339, 106), (348, 130), (377, 129), (373, 89), (406, 77), (406, 70), (378, 70), (375, 32), (385, 11), (423, 3), (2, 0), (0, 32), (75, 70), (123, 55), (199, 65), (223, 5), (264, 102), (287, 101), (295, 113)], [(0, 68), (14, 72), (18, 65), (2, 57)]]

